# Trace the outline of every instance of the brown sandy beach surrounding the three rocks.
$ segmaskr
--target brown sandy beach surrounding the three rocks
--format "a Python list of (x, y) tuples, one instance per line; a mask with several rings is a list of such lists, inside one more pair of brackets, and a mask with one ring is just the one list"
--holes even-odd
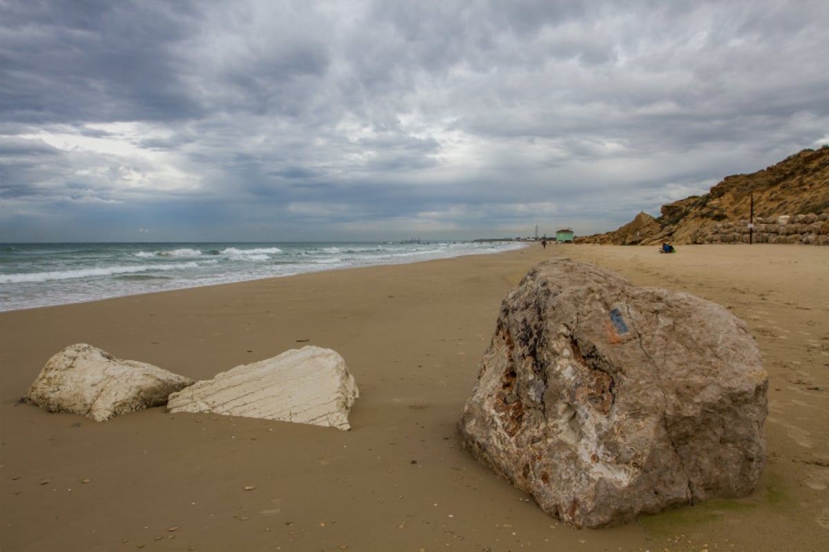
[[(549, 257), (745, 319), (769, 374), (750, 497), (574, 530), (458, 446), (507, 290)], [(829, 550), (829, 249), (541, 246), (0, 314), (2, 550)], [(17, 404), (70, 343), (196, 379), (306, 343), (346, 359), (352, 430)], [(245, 490), (246, 487), (254, 487)]]

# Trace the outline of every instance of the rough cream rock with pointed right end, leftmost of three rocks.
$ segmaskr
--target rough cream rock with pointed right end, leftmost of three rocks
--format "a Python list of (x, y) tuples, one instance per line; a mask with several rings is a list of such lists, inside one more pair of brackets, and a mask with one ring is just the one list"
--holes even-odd
[(134, 360), (120, 360), (99, 348), (76, 343), (46, 362), (24, 401), (50, 412), (71, 412), (95, 421), (167, 403), (189, 377)]

